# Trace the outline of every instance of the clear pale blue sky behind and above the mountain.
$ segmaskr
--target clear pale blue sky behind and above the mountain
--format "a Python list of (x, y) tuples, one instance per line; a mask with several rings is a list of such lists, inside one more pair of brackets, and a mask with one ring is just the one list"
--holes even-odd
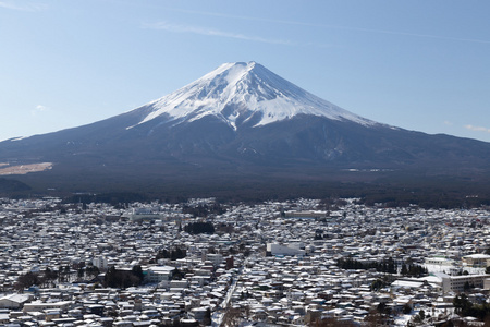
[(489, 1), (0, 0), (0, 140), (256, 61), (346, 110), (490, 142)]

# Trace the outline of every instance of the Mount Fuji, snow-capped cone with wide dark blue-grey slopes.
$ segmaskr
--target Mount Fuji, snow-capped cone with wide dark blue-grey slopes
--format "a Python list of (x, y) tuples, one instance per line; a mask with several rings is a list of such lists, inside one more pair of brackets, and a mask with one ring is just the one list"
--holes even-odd
[[(0, 143), (0, 173), (64, 191), (220, 187), (237, 181), (363, 180), (387, 174), (480, 179), (490, 144), (428, 135), (344, 110), (256, 62), (225, 63), (132, 111)], [(241, 183), (243, 185), (243, 183)]]

